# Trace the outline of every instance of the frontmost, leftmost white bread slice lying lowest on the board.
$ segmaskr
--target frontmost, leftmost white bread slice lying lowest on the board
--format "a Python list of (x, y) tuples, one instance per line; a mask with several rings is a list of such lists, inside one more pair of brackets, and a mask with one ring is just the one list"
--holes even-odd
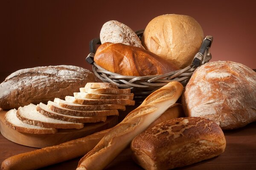
[(17, 118), (17, 110), (9, 110), (4, 116), (4, 120), (7, 126), (22, 133), (33, 133), (33, 134), (50, 134), (57, 133), (57, 129), (44, 128), (35, 125), (26, 124)]

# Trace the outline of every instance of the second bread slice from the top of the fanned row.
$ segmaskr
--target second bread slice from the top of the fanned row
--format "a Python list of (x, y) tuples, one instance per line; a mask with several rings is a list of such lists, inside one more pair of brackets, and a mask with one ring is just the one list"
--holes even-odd
[(131, 93), (131, 89), (115, 89), (115, 88), (80, 88), (80, 92), (96, 93), (96, 94), (116, 94), (116, 95), (128, 95)]

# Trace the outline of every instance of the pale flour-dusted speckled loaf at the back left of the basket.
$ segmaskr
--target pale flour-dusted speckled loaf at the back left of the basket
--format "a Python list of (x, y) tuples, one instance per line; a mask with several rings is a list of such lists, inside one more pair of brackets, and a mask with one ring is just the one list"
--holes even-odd
[(110, 20), (102, 26), (100, 41), (102, 44), (106, 42), (123, 43), (144, 49), (136, 33), (130, 27), (116, 20)]

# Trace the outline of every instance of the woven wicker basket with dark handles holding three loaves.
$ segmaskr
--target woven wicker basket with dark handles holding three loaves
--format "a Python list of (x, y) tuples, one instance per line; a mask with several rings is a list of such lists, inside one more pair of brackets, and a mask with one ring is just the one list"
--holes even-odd
[[(144, 30), (139, 30), (136, 32), (138, 37), (142, 37), (143, 31)], [(141, 101), (145, 99), (149, 94), (171, 81), (179, 81), (181, 84), (183, 84), (183, 86), (186, 86), (194, 70), (198, 66), (209, 62), (209, 60), (212, 58), (212, 55), (209, 51), (212, 40), (212, 36), (206, 36), (204, 38), (201, 48), (195, 55), (195, 58), (193, 59), (190, 66), (163, 75), (151, 75), (143, 77), (126, 76), (103, 69), (93, 61), (96, 52), (96, 44), (101, 44), (99, 38), (95, 38), (90, 41), (90, 54), (87, 56), (86, 61), (87, 63), (93, 65), (94, 74), (103, 82), (111, 82), (116, 84), (119, 88), (131, 88), (131, 92), (134, 93), (134, 100)]]

